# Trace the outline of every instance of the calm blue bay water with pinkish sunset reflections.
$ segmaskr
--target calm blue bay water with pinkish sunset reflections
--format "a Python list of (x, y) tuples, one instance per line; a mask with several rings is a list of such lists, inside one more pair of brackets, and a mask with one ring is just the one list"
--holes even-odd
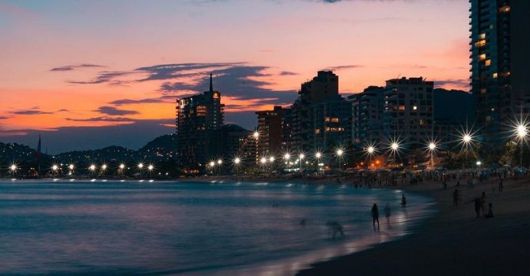
[[(0, 183), (0, 274), (291, 275), (408, 233), (432, 202), (297, 184)], [(391, 227), (373, 203), (393, 206)], [(301, 223), (301, 221), (304, 223)], [(333, 240), (327, 221), (345, 237)]]

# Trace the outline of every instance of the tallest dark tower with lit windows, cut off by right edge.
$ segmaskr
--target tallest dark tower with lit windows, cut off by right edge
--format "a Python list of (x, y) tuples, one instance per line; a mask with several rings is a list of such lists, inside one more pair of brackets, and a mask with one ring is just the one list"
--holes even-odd
[(529, 114), (530, 1), (470, 0), (471, 92), (483, 139)]

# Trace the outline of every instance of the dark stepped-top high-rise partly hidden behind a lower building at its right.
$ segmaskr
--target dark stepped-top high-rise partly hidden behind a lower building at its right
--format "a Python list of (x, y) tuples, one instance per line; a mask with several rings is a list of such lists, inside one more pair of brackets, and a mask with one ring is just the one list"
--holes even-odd
[(339, 95), (339, 77), (331, 71), (319, 71), (311, 81), (302, 83), (298, 99), (293, 103), (291, 151), (312, 150), (315, 132), (311, 106), (333, 95)]

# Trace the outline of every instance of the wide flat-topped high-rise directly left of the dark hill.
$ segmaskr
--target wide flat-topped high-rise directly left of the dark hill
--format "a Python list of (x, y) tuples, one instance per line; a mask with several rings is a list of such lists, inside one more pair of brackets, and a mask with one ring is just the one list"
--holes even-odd
[(422, 77), (386, 81), (382, 128), (387, 141), (421, 148), (433, 136), (433, 86)]

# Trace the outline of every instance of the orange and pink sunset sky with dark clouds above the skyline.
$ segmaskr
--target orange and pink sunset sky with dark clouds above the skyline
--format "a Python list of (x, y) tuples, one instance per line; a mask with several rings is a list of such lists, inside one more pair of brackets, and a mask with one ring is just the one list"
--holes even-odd
[(288, 106), (318, 70), (349, 95), (424, 77), (469, 90), (467, 0), (0, 0), (0, 141), (139, 148), (175, 99), (215, 90), (226, 124)]

